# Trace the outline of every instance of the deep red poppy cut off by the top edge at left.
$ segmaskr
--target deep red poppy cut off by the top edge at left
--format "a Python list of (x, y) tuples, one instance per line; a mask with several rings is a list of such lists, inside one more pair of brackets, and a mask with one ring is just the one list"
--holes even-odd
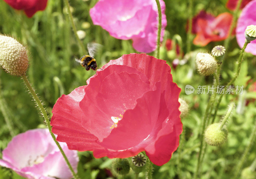
[(31, 18), (36, 11), (43, 11), (46, 7), (47, 0), (4, 0), (12, 8), (24, 10), (25, 14)]

